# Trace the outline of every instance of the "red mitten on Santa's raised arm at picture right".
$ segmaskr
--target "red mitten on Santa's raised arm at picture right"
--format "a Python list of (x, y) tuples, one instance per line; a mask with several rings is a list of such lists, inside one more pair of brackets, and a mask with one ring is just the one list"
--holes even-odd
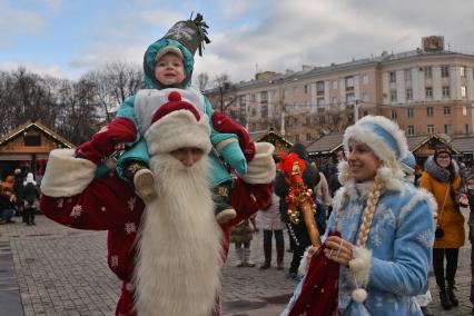
[(219, 111), (214, 111), (211, 120), (215, 130), (219, 132), (237, 135), (239, 146), (241, 148), (241, 151), (244, 151), (245, 159), (247, 161), (251, 161), (251, 159), (254, 159), (255, 144), (250, 141), (250, 136), (243, 126), (235, 122), (231, 118), (223, 115)]

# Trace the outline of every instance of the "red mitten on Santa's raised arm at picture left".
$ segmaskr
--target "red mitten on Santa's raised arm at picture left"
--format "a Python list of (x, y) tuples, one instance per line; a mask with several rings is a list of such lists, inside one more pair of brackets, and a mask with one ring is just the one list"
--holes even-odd
[(76, 149), (76, 155), (100, 165), (103, 158), (110, 156), (115, 145), (134, 141), (137, 137), (135, 124), (127, 118), (116, 118), (96, 132), (91, 140)]

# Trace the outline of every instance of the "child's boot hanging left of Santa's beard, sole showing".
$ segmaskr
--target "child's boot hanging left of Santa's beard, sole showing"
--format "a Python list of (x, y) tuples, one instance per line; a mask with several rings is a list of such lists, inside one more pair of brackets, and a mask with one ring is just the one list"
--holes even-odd
[(134, 184), (135, 191), (144, 200), (150, 203), (156, 198), (155, 177), (150, 169), (146, 166), (134, 162), (127, 168), (129, 179)]

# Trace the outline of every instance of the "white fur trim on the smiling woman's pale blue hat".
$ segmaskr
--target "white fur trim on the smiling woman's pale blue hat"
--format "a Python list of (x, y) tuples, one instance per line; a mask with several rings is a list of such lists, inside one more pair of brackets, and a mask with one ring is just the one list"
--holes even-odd
[[(377, 125), (391, 134), (396, 141), (399, 157), (395, 157), (393, 149), (387, 146), (381, 136), (364, 127), (363, 125), (365, 122)], [(405, 134), (399, 129), (396, 122), (382, 116), (366, 116), (346, 129), (344, 132), (344, 149), (346, 155), (348, 154), (349, 140), (366, 144), (374, 154), (384, 161), (396, 160), (396, 158), (403, 160), (408, 151)]]

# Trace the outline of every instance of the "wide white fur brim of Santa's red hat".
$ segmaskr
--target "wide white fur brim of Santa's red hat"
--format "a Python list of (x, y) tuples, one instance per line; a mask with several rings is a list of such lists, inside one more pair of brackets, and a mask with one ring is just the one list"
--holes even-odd
[(150, 156), (169, 154), (185, 147), (199, 148), (208, 154), (211, 148), (209, 136), (208, 117), (201, 115), (197, 121), (189, 110), (172, 111), (154, 122), (145, 132)]

